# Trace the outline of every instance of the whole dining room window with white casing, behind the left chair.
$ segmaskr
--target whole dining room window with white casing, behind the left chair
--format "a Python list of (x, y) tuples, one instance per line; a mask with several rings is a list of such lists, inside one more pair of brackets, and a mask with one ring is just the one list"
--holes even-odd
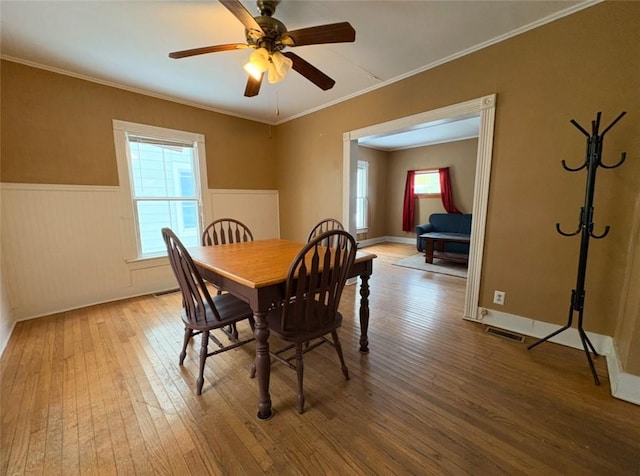
[[(171, 228), (185, 246), (200, 244), (204, 138), (171, 129), (114, 121), (128, 259), (166, 254), (160, 230)], [(125, 208), (127, 208), (125, 206)]]

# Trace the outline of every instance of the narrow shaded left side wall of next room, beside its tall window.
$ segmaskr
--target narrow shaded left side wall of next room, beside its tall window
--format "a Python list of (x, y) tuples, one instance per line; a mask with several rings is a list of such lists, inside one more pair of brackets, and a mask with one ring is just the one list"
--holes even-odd
[(370, 149), (368, 147), (358, 147), (358, 160), (369, 163), (369, 228), (366, 236), (358, 239), (373, 239), (387, 236), (387, 208), (388, 208), (388, 163), (389, 153)]

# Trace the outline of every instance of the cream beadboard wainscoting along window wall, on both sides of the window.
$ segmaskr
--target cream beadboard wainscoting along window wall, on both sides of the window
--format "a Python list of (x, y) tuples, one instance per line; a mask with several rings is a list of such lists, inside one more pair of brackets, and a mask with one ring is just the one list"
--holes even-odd
[[(2, 316), (3, 329), (14, 321), (176, 287), (166, 258), (125, 261), (119, 187), (0, 187), (8, 301), (2, 304), (10, 313)], [(280, 236), (277, 191), (209, 190), (208, 195), (214, 218), (238, 218), (256, 239)]]

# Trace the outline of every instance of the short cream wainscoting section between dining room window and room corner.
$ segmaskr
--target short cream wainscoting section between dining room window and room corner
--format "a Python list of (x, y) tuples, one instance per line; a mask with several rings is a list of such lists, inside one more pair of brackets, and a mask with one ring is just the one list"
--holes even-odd
[(277, 190), (210, 190), (213, 219), (235, 218), (256, 240), (280, 238)]

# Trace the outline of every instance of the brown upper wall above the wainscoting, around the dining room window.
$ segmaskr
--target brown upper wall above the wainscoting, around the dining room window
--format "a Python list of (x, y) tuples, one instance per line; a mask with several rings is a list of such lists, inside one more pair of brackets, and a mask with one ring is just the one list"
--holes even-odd
[(275, 189), (271, 127), (2, 61), (3, 182), (117, 185), (112, 120), (205, 135), (209, 188)]

